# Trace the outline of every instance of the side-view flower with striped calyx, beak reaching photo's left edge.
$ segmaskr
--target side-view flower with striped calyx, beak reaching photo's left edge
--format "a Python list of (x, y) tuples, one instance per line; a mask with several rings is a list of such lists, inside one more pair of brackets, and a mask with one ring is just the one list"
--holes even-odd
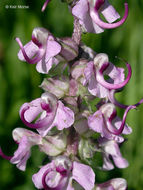
[(57, 156), (65, 151), (67, 136), (63, 132), (42, 138), (37, 133), (23, 128), (13, 130), (13, 139), (18, 144), (18, 149), (13, 156), (6, 156), (0, 149), (0, 156), (9, 160), (12, 164), (25, 171), (26, 163), (31, 155), (32, 146), (38, 145), (40, 151), (48, 156)]

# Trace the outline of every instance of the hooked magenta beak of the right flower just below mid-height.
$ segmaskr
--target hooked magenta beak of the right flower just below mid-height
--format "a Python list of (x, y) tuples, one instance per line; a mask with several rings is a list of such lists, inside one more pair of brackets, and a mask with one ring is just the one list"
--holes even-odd
[(136, 106), (128, 106), (127, 109), (124, 112), (123, 115), (123, 120), (121, 123), (121, 126), (119, 129), (116, 129), (113, 125), (112, 125), (112, 120), (115, 118), (116, 116), (116, 112), (113, 111), (113, 113), (111, 114), (110, 118), (107, 119), (107, 123), (105, 122), (105, 126), (107, 127), (107, 129), (110, 131), (110, 133), (114, 134), (114, 135), (120, 135), (122, 133), (122, 131), (124, 130), (124, 126), (125, 126), (125, 121), (126, 121), (126, 117), (127, 117), (127, 113), (131, 110), (131, 109), (135, 109)]

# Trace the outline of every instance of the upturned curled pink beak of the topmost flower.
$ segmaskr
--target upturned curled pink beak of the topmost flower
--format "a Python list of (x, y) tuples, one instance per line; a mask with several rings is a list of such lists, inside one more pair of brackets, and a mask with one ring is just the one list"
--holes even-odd
[[(97, 3), (98, 3), (98, 1), (97, 1)], [(122, 25), (126, 21), (126, 19), (128, 17), (128, 4), (127, 3), (124, 4), (124, 6), (125, 6), (125, 14), (124, 14), (123, 18), (120, 21), (116, 22), (116, 23), (106, 23), (106, 22), (103, 22), (100, 19), (98, 9), (100, 8), (100, 6), (102, 6), (102, 4), (100, 3), (100, 6), (99, 6), (97, 3), (95, 4), (94, 8), (91, 8), (90, 16), (93, 19), (93, 21), (98, 26), (100, 26), (101, 28), (104, 28), (104, 29), (117, 28), (117, 27), (119, 27), (120, 25)]]

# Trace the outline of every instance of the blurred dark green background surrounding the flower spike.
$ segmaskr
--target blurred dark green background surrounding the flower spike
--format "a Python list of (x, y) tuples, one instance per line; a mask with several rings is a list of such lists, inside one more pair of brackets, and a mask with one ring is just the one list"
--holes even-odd
[[(110, 1), (123, 15), (123, 1)], [(35, 65), (20, 62), (17, 58), (19, 47), (14, 40), (20, 37), (23, 44), (31, 39), (34, 27), (49, 29), (55, 36), (71, 36), (73, 18), (66, 4), (52, 0), (44, 13), (41, 7), (44, 0), (1, 0), (0, 2), (0, 145), (4, 152), (12, 155), (16, 145), (11, 132), (16, 127), (24, 127), (19, 119), (19, 108), (27, 101), (39, 97), (38, 88), (44, 75), (35, 70)], [(29, 9), (6, 9), (5, 5), (28, 5)], [(105, 52), (113, 63), (115, 56), (124, 58), (132, 66), (130, 83), (116, 97), (123, 103), (136, 103), (143, 97), (143, 1), (129, 1), (129, 18), (120, 28), (107, 30), (102, 34), (86, 34), (83, 41), (96, 52)], [(120, 111), (120, 114), (123, 113)], [(123, 177), (127, 179), (129, 190), (143, 189), (143, 105), (128, 114), (128, 124), (133, 133), (128, 136), (121, 150), (130, 165), (127, 169), (110, 172), (96, 172), (96, 180)], [(34, 190), (31, 176), (41, 164), (38, 149), (32, 149), (26, 172), (0, 158), (1, 190)]]

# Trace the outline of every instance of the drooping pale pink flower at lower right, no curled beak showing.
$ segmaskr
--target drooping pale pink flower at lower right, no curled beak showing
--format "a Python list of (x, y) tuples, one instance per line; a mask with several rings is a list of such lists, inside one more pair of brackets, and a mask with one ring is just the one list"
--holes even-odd
[(116, 167), (118, 168), (128, 167), (128, 161), (122, 157), (119, 145), (116, 141), (108, 140), (106, 138), (99, 138), (98, 142), (99, 142), (99, 147), (103, 151), (102, 155), (104, 163), (102, 168), (104, 170), (112, 170), (114, 168), (111, 161), (111, 157)]

